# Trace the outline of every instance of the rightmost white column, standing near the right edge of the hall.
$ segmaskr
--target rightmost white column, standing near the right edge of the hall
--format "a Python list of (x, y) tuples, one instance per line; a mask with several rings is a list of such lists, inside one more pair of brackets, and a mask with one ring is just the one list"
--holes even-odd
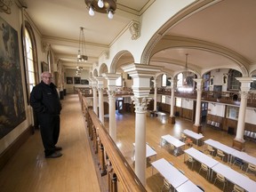
[(248, 92), (250, 91), (253, 78), (252, 77), (237, 77), (236, 79), (239, 82), (241, 82), (241, 87), (240, 87), (241, 101), (240, 101), (240, 108), (239, 108), (239, 114), (238, 114), (235, 140), (244, 142), (245, 112), (246, 112), (246, 107), (247, 107)]

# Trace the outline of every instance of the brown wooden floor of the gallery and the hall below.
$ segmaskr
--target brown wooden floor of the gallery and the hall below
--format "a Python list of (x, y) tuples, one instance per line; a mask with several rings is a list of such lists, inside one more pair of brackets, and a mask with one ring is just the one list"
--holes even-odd
[[(87, 135), (84, 130), (84, 118), (81, 112), (77, 95), (67, 95), (65, 100), (61, 100), (63, 110), (61, 112), (61, 132), (59, 145), (63, 148), (63, 156), (57, 159), (45, 159), (44, 148), (40, 138), (40, 133), (36, 131), (20, 150), (12, 157), (0, 172), (0, 191), (3, 192), (98, 192), (106, 191), (100, 189), (97, 179), (98, 168), (94, 168), (93, 156), (90, 152)], [(160, 138), (164, 134), (171, 134), (180, 138), (180, 132), (184, 129), (191, 129), (192, 122), (176, 118), (176, 124), (168, 124), (167, 116), (151, 117), (147, 116), (147, 141), (150, 146), (156, 148), (156, 159), (164, 157), (172, 161), (175, 167), (185, 172), (185, 175), (196, 185), (204, 188), (205, 191), (221, 191), (222, 186), (205, 179), (205, 174), (198, 173), (199, 164), (195, 164), (194, 171), (191, 166), (184, 164), (184, 155), (173, 156), (165, 147), (160, 147)], [(108, 129), (108, 117), (105, 117), (105, 125)], [(134, 114), (116, 113), (117, 140), (116, 144), (120, 148), (124, 157), (132, 164), (132, 143), (134, 142)], [(203, 127), (204, 140), (212, 139), (231, 146), (234, 135), (227, 132), (220, 132), (210, 127)], [(203, 146), (196, 147), (203, 150)], [(256, 143), (246, 141), (245, 150), (248, 154), (256, 156)], [(216, 158), (218, 159), (218, 158)], [(150, 161), (154, 161), (152, 158)], [(218, 159), (220, 161), (220, 159)], [(238, 167), (232, 166), (238, 172)], [(256, 176), (247, 174), (256, 181)], [(106, 178), (105, 178), (106, 179)], [(103, 178), (103, 180), (105, 180)], [(156, 171), (152, 175), (150, 163), (147, 166), (147, 190), (148, 192), (161, 191), (163, 177)], [(233, 185), (228, 183), (225, 191), (232, 191)]]

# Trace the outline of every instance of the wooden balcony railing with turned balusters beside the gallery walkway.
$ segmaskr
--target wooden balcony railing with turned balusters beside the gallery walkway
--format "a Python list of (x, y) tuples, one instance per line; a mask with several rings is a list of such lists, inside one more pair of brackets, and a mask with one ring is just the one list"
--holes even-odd
[[(108, 191), (117, 192), (119, 188), (122, 188), (122, 191), (146, 191), (104, 125), (100, 123), (98, 116), (93, 112), (92, 106), (88, 106), (82, 92), (78, 92), (78, 94), (87, 122), (89, 138), (94, 153), (98, 154), (100, 174), (101, 176), (108, 174)], [(117, 181), (120, 185), (117, 185)]]

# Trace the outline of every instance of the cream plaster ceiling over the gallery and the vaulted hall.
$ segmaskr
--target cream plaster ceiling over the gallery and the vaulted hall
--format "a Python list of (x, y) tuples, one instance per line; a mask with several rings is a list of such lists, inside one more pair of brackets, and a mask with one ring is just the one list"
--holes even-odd
[[(106, 14), (88, 14), (84, 0), (26, 0), (28, 15), (33, 18), (43, 40), (51, 43), (55, 56), (63, 60), (66, 68), (76, 67), (79, 28), (84, 27), (86, 52), (89, 60), (84, 67), (92, 67), (108, 49), (116, 36), (154, 3), (153, 0), (118, 0), (113, 20)], [(61, 3), (60, 3), (61, 2)], [(240, 55), (256, 65), (256, 1), (216, 1), (200, 11), (193, 12), (168, 28), (163, 37), (179, 36), (215, 44)], [(110, 26), (111, 22), (111, 28)], [(160, 44), (160, 42), (159, 42)], [(188, 52), (188, 68), (206, 71), (210, 68), (237, 68), (234, 60), (217, 52), (193, 47), (170, 47), (152, 55), (150, 64), (160, 65), (174, 73), (184, 68)], [(256, 68), (255, 68), (256, 69)]]

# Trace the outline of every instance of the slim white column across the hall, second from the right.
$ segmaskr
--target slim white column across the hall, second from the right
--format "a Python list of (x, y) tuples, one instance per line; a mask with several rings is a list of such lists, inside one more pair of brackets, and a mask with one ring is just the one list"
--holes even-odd
[(196, 82), (196, 119), (195, 124), (196, 126), (200, 126), (200, 118), (201, 118), (201, 100), (202, 100), (202, 78), (194, 79)]

